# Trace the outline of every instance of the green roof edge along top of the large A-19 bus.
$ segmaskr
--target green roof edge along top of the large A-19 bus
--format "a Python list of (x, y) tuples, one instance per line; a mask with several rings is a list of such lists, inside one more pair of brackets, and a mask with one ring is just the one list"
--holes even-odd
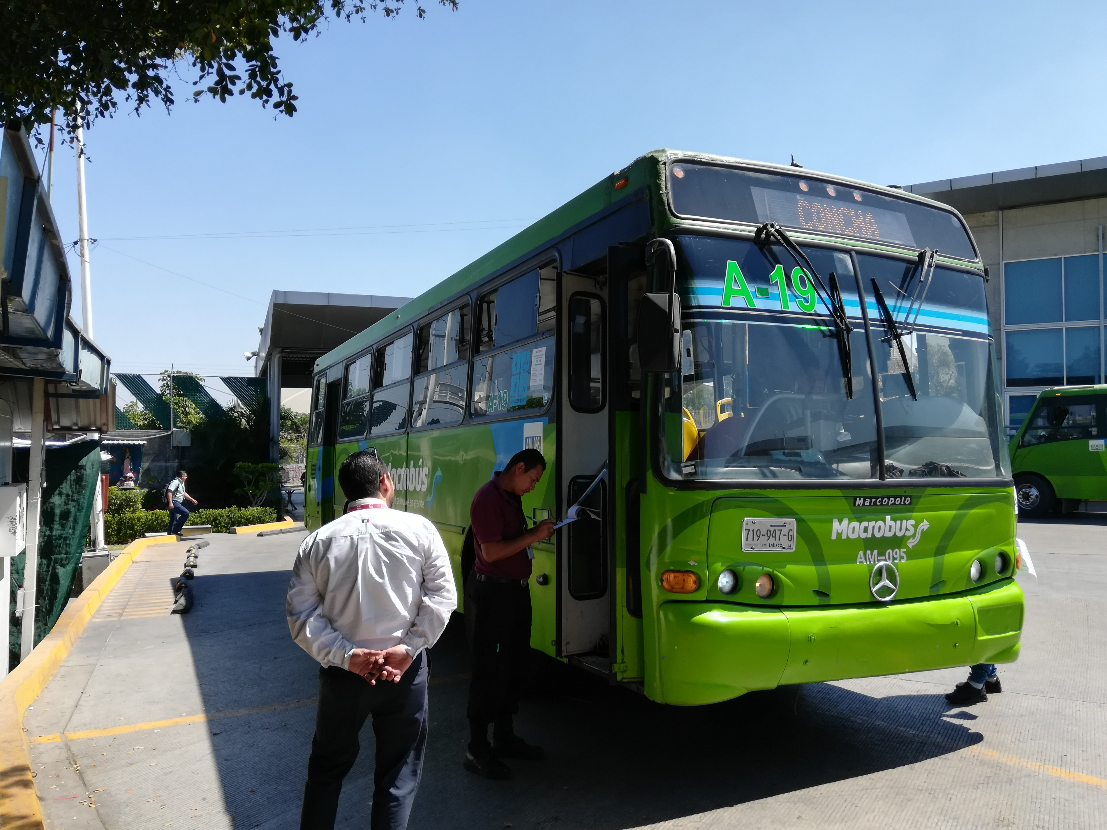
[[(348, 357), (363, 351), (368, 346), (373, 345), (379, 340), (386, 336), (390, 332), (413, 323), (427, 312), (431, 312), (454, 298), (472, 290), (486, 279), (494, 277), (496, 273), (505, 270), (506, 268), (518, 263), (530, 256), (541, 252), (542, 249), (548, 248), (561, 237), (575, 231), (578, 226), (584, 225), (589, 217), (600, 210), (621, 201), (631, 201), (632, 199), (628, 197), (640, 194), (640, 191), (650, 184), (664, 188), (664, 183), (660, 181), (660, 177), (656, 172), (661, 169), (664, 162), (677, 158), (682, 160), (696, 160), (726, 165), (738, 164), (765, 170), (784, 173), (787, 175), (794, 175), (797, 169), (789, 165), (754, 162), (744, 158), (730, 158), (726, 156), (715, 156), (706, 153), (687, 153), (675, 149), (655, 149), (650, 153), (645, 153), (631, 162), (627, 167), (603, 177), (600, 181), (592, 185), (579, 196), (573, 197), (561, 207), (547, 214), (532, 225), (524, 228), (510, 239), (496, 246), (483, 257), (469, 262), (469, 264), (465, 266), (462, 270), (427, 289), (418, 297), (396, 309), (394, 313), (383, 318), (360, 334), (355, 334), (346, 342), (335, 349), (332, 349), (330, 352), (315, 361), (314, 371), (318, 373), (329, 366), (345, 361)], [(949, 205), (942, 205), (941, 203), (933, 201), (932, 199), (928, 199), (922, 196), (917, 196), (899, 188), (873, 185), (868, 181), (860, 181), (845, 176), (835, 176), (828, 173), (819, 173), (817, 170), (805, 169), (805, 175), (840, 183), (847, 186), (852, 185), (876, 189), (894, 198), (917, 201), (928, 205), (929, 207), (939, 208), (946, 212), (956, 214), (956, 211), (950, 208)], [(625, 184), (621, 184), (622, 179), (627, 179)], [(960, 215), (958, 216), (960, 218)]]

